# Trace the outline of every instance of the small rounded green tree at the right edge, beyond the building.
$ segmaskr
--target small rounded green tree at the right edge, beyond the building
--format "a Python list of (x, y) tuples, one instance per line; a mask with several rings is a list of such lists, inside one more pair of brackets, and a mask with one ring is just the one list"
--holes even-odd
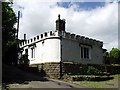
[(109, 53), (109, 57), (111, 58), (112, 62), (120, 63), (120, 50), (118, 48), (112, 48)]

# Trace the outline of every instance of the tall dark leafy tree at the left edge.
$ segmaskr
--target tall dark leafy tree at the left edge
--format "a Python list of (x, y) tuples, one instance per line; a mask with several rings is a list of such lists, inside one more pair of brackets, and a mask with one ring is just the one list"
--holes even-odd
[(10, 6), (11, 2), (2, 2), (2, 59), (6, 64), (12, 64), (17, 59), (16, 15)]

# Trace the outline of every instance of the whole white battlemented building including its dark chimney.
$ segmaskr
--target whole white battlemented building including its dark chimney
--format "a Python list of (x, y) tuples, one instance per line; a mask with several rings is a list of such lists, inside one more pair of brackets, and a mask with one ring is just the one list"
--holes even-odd
[(103, 42), (65, 31), (65, 20), (56, 20), (56, 30), (19, 44), (30, 65), (47, 62), (103, 64)]

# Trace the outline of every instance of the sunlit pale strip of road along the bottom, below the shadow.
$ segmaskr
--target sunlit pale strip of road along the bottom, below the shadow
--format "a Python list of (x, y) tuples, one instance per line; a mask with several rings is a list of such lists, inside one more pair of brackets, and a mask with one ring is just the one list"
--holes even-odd
[(85, 88), (68, 82), (50, 79), (48, 81), (26, 81), (22, 84), (9, 84), (8, 88)]

